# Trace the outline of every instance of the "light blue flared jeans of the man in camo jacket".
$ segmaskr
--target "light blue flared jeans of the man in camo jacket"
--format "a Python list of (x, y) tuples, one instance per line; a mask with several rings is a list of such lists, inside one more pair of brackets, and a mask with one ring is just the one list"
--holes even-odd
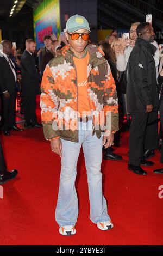
[(78, 198), (75, 188), (77, 161), (83, 146), (89, 187), (90, 219), (93, 223), (109, 221), (106, 199), (102, 192), (103, 137), (92, 135), (92, 120), (79, 122), (79, 142), (61, 139), (61, 174), (55, 219), (59, 226), (75, 225), (78, 217)]

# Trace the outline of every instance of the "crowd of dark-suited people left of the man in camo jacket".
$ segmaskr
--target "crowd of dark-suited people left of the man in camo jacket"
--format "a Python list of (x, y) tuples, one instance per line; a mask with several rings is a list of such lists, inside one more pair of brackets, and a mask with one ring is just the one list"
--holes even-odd
[[(36, 51), (33, 39), (26, 40), (26, 48), (15, 48), (9, 40), (0, 44), (0, 129), (4, 136), (11, 131), (23, 131), (42, 127), (36, 119), (36, 95), (41, 94), (40, 84), (43, 71), (49, 62), (61, 54), (62, 46), (68, 44), (64, 36), (59, 40), (52, 34), (44, 36), (44, 46)], [(16, 98), (19, 98), (20, 114), (24, 115), (24, 127), (16, 125)], [(7, 170), (0, 140), (0, 184), (17, 176), (17, 170)]]

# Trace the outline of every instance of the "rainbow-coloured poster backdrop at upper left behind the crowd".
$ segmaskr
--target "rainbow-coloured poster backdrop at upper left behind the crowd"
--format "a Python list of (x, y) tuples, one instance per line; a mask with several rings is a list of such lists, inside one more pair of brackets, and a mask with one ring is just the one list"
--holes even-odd
[(34, 38), (36, 47), (43, 46), (43, 36), (54, 33), (57, 38), (60, 34), (59, 0), (44, 0), (33, 12)]

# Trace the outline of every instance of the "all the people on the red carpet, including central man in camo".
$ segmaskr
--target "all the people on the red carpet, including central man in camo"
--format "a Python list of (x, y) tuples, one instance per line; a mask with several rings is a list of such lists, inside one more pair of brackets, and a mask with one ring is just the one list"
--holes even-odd
[[(89, 184), (90, 219), (101, 230), (113, 227), (102, 192), (102, 151), (105, 160), (121, 161), (113, 146), (121, 147), (121, 131), (130, 129), (128, 169), (147, 175), (162, 140), (163, 57), (154, 40), (152, 23), (135, 22), (129, 38), (117, 31), (96, 44), (80, 15), (70, 17), (59, 40), (53, 34), (36, 52), (33, 39), (16, 52), (8, 40), (1, 42), (0, 88), (2, 131), (21, 132), (15, 124), (17, 91), (22, 97), (24, 129), (43, 125), (51, 149), (61, 157), (61, 175), (55, 218), (61, 235), (74, 235), (78, 199), (74, 183), (83, 146)], [(19, 81), (19, 82), (18, 82)], [(41, 84), (41, 88), (40, 88)], [(41, 119), (36, 119), (36, 95), (41, 94)], [(161, 95), (159, 97), (159, 94)], [(158, 135), (158, 111), (160, 133)], [(15, 178), (8, 172), (0, 144), (0, 184)], [(163, 163), (163, 147), (161, 160)], [(163, 168), (154, 170), (162, 174)]]

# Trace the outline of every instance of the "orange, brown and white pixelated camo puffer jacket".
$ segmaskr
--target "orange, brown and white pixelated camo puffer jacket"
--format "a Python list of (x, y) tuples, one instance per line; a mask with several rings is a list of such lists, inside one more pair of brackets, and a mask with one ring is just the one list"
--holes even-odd
[[(106, 124), (108, 130), (118, 130), (118, 103), (115, 82), (110, 66), (101, 48), (87, 46), (90, 54), (87, 66), (87, 95), (95, 127)], [(78, 141), (78, 90), (73, 52), (70, 46), (62, 48), (62, 55), (52, 59), (46, 66), (41, 84), (41, 119), (45, 138), (60, 136)], [(104, 119), (99, 113), (104, 112)], [(95, 118), (96, 117), (96, 118)], [(101, 137), (101, 129), (96, 131)]]

